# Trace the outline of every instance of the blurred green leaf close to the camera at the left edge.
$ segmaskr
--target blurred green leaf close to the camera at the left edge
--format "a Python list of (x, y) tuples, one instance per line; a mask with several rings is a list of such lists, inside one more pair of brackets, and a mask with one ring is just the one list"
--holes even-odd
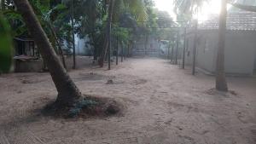
[(12, 49), (10, 27), (3, 14), (0, 13), (0, 72), (9, 72), (12, 63)]

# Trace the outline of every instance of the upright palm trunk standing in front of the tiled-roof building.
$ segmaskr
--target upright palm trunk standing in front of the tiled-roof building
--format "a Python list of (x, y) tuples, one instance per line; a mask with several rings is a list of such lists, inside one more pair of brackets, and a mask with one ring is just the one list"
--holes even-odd
[(225, 32), (227, 20), (227, 0), (222, 0), (221, 13), (219, 15), (218, 26), (218, 55), (216, 64), (216, 89), (219, 91), (228, 91), (228, 85), (224, 72), (224, 47)]

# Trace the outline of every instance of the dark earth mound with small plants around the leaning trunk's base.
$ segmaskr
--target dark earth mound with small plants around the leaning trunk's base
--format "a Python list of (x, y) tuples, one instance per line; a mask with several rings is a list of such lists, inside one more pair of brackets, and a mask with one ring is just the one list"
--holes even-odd
[(84, 95), (72, 107), (61, 107), (59, 104), (50, 102), (43, 109), (43, 114), (55, 118), (104, 118), (120, 116), (124, 106), (113, 98)]

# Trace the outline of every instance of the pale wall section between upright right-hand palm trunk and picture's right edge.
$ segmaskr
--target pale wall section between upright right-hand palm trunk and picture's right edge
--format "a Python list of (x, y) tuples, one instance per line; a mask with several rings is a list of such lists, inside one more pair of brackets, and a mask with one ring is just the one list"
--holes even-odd
[(256, 32), (227, 32), (225, 69), (228, 73), (253, 74)]

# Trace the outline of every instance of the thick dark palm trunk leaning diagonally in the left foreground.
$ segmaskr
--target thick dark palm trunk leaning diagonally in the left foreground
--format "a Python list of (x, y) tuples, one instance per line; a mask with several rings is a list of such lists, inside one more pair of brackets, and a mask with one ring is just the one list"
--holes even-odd
[(49, 39), (40, 25), (36, 14), (34, 14), (31, 5), (27, 0), (14, 1), (49, 68), (49, 73), (58, 91), (56, 103), (62, 107), (72, 106), (73, 103), (81, 97), (79, 89), (61, 65), (61, 60), (59, 60), (55, 54), (55, 51), (49, 43)]

